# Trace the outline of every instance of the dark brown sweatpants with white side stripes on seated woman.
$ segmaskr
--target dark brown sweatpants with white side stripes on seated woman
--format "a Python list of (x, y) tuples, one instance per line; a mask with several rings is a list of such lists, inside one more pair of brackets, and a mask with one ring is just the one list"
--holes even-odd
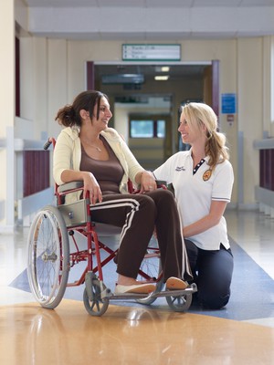
[(170, 276), (184, 278), (184, 239), (174, 195), (168, 190), (104, 195), (90, 210), (92, 221), (121, 227), (118, 274), (136, 278), (156, 228), (164, 282)]

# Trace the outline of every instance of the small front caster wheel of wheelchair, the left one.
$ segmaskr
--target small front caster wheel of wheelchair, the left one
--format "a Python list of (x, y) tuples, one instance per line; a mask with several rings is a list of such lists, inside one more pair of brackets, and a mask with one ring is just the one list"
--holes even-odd
[(99, 282), (92, 283), (91, 291), (92, 291), (92, 298), (90, 300), (87, 289), (85, 288), (84, 290), (83, 301), (85, 308), (87, 309), (87, 312), (90, 314), (90, 316), (100, 317), (108, 309), (109, 299), (108, 298), (104, 298), (103, 300), (101, 299)]

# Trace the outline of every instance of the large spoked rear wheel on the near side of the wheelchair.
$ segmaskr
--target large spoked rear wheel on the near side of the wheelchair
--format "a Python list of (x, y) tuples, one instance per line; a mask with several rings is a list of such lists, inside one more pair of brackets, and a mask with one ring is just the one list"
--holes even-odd
[(48, 205), (37, 213), (27, 239), (30, 289), (44, 308), (56, 308), (68, 283), (68, 232), (58, 208)]

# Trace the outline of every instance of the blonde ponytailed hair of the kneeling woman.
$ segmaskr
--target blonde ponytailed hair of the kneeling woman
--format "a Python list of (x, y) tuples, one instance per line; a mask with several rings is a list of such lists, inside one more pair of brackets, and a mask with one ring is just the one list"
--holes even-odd
[(182, 107), (185, 120), (190, 128), (201, 130), (206, 128), (205, 156), (209, 156), (208, 164), (211, 169), (217, 163), (229, 160), (227, 138), (217, 130), (217, 117), (214, 110), (205, 103), (190, 102)]

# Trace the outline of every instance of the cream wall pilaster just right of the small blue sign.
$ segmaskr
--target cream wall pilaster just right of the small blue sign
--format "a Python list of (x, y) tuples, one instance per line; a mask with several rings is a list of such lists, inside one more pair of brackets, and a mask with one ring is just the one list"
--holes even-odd
[(263, 41), (239, 39), (237, 44), (238, 130), (244, 136), (243, 202), (255, 199), (258, 185), (258, 151), (253, 141), (262, 138), (263, 128)]

